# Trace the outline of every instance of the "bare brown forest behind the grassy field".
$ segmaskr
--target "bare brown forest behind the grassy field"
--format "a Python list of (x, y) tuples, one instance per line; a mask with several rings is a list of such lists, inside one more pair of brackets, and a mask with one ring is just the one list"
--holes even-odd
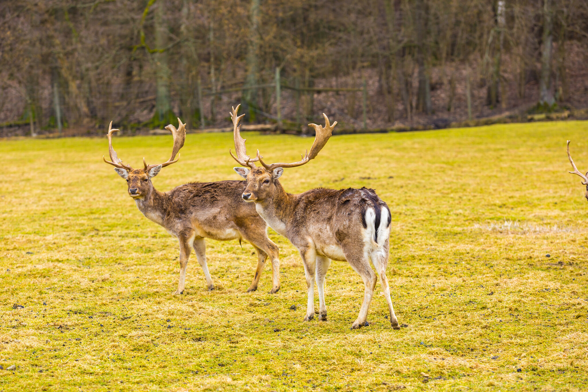
[(0, 136), (573, 113), (587, 46), (586, 0), (4, 0)]

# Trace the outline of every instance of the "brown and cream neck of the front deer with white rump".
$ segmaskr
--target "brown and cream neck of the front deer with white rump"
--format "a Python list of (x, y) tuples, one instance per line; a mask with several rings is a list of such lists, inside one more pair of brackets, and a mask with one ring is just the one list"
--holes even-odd
[(290, 193), (286, 193), (278, 180), (276, 180), (275, 186), (276, 192), (261, 202), (255, 202), (255, 209), (273, 230), (286, 237), (286, 228), (292, 219), (294, 197)]

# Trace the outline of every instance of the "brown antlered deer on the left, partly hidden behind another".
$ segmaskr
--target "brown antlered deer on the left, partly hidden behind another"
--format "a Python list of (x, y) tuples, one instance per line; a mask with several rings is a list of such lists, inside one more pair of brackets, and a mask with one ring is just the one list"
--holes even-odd
[[(104, 162), (115, 166), (114, 170), (126, 180), (128, 194), (135, 200), (139, 211), (163, 226), (168, 233), (179, 241), (180, 276), (178, 290), (173, 294), (183, 294), (186, 282), (186, 267), (191, 249), (196, 253), (202, 267), (209, 290), (214, 289), (211, 274), (206, 264), (205, 238), (228, 241), (245, 239), (257, 252), (258, 265), (253, 281), (247, 292), (258, 289), (259, 279), (266, 259), (272, 262), (273, 287), (270, 293), (280, 289), (279, 249), (267, 233), (267, 224), (258, 215), (255, 207), (245, 203), (240, 195), (245, 190), (245, 181), (226, 180), (217, 182), (193, 182), (159, 192), (153, 186), (152, 178), (158, 175), (162, 167), (178, 162), (178, 152), (185, 138), (185, 124), (178, 118), (179, 128), (168, 125), (165, 128), (172, 133), (173, 148), (169, 160), (158, 165), (147, 165), (143, 158), (143, 168), (133, 169), (118, 158), (112, 148), (112, 134), (118, 129), (108, 128), (108, 152), (111, 160)], [(178, 155), (178, 159), (175, 159)]]

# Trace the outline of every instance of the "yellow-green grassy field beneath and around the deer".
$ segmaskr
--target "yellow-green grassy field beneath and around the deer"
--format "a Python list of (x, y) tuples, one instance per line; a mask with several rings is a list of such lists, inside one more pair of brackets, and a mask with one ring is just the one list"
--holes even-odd
[[(303, 267), (280, 246), (282, 287), (256, 257), (207, 240), (216, 290), (192, 255), (141, 215), (102, 162), (106, 139), (2, 140), (0, 390), (516, 390), (588, 385), (588, 203), (567, 174), (566, 139), (588, 169), (588, 122), (334, 136), (286, 169), (289, 192), (373, 187), (392, 211), (388, 277), (369, 327), (350, 330), (363, 283), (333, 262), (329, 320), (302, 321)], [(246, 135), (266, 161), (299, 159), (310, 138)], [(125, 162), (169, 157), (171, 136), (115, 138)], [(232, 135), (188, 135), (154, 184), (239, 179)], [(315, 299), (318, 307), (318, 299)], [(13, 309), (14, 304), (24, 308)], [(6, 370), (11, 365), (13, 371)]]

